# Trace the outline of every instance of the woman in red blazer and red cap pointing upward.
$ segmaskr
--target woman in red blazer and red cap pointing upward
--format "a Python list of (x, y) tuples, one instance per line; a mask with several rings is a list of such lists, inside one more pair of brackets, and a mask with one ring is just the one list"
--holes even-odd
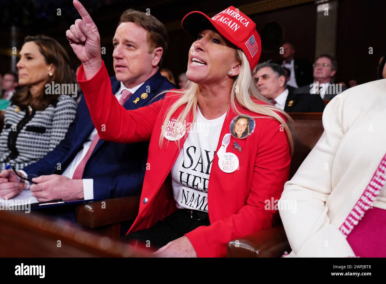
[[(139, 213), (127, 238), (150, 241), (160, 256), (225, 257), (230, 240), (273, 226), (270, 202), (288, 180), (292, 140), (286, 114), (252, 80), (261, 53), (255, 23), (234, 7), (212, 19), (186, 15), (183, 29), (198, 37), (188, 58), (190, 85), (126, 111), (111, 94), (97, 28), (74, 4), (83, 20), (66, 35), (83, 63), (77, 79), (100, 138), (150, 140)], [(127, 40), (134, 43), (122, 40), (115, 49), (139, 48)], [(155, 65), (161, 54), (149, 53)], [(116, 64), (131, 67), (124, 58)], [(231, 133), (239, 116), (249, 119), (248, 135), (240, 138)]]

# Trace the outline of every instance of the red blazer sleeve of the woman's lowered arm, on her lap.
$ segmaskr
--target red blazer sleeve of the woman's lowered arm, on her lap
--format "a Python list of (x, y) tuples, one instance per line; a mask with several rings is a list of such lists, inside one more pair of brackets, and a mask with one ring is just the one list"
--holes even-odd
[(265, 208), (267, 200), (271, 203), (272, 198), (280, 198), (291, 162), (287, 136), (280, 129), (273, 119), (264, 122), (246, 204), (237, 214), (186, 234), (199, 257), (225, 257), (230, 240), (272, 226), (276, 210)]

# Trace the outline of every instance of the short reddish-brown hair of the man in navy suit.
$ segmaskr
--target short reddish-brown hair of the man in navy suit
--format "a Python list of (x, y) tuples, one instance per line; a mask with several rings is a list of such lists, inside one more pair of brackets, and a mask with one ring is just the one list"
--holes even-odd
[(168, 31), (166, 30), (165, 25), (157, 20), (156, 17), (152, 15), (146, 15), (145, 13), (134, 9), (128, 9), (123, 12), (123, 14), (120, 16), (118, 26), (126, 22), (137, 24), (149, 32), (147, 35), (149, 53), (158, 47), (163, 49), (161, 60), (159, 60), (158, 63), (158, 66), (161, 67), (162, 61), (166, 54), (166, 49), (168, 48)]

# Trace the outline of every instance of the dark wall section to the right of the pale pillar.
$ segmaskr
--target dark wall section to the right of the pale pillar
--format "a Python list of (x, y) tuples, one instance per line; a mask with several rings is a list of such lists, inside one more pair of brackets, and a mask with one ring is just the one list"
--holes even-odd
[[(336, 57), (338, 80), (375, 80), (381, 55), (386, 53), (386, 1), (339, 1)], [(369, 47), (373, 54), (369, 54)]]

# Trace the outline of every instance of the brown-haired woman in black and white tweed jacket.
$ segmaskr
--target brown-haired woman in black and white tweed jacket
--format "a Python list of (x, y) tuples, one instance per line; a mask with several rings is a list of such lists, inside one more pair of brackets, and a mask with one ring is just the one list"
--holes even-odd
[(64, 138), (76, 113), (71, 95), (55, 94), (58, 92), (46, 87), (52, 83), (76, 87), (71, 85), (75, 80), (63, 47), (51, 37), (28, 36), (19, 56), (16, 66), (23, 88), (12, 97), (5, 112), (0, 170), (8, 165), (22, 169), (44, 157)]

